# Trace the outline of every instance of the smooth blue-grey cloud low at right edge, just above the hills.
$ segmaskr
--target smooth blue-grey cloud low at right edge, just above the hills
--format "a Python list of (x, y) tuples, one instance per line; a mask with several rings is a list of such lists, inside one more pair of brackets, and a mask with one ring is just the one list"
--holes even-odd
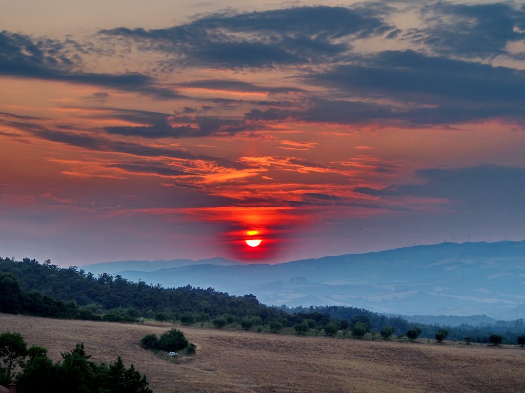
[(451, 206), (474, 210), (525, 212), (525, 168), (479, 166), (456, 169), (420, 169), (421, 184), (391, 185), (383, 189), (355, 188), (362, 194), (391, 198), (443, 198)]

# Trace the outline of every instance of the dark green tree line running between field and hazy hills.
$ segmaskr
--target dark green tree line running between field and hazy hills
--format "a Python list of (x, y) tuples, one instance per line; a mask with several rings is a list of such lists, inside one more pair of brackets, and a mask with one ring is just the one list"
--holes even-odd
[(75, 266), (60, 268), (49, 260), (40, 264), (29, 258), (0, 257), (0, 312), (114, 322), (149, 318), (219, 329), (228, 326), (274, 333), (288, 329), (297, 334), (322, 331), (329, 336), (356, 337), (380, 333), (383, 328), (391, 329), (391, 335), (406, 335), (417, 327), (422, 337), (435, 338), (446, 328), (449, 340), (470, 337), (471, 342), (482, 343), (489, 342), (490, 334), (500, 334), (503, 343), (513, 344), (525, 331), (519, 320), (505, 325), (446, 327), (409, 323), (400, 316), (355, 307), (267, 307), (253, 294), (232, 296), (190, 285), (164, 288), (107, 273), (95, 277)]

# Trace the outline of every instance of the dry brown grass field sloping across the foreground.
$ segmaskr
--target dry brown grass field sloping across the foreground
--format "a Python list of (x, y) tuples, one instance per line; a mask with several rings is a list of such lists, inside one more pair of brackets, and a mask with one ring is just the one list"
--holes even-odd
[(140, 339), (170, 325), (65, 321), (0, 314), (0, 331), (60, 352), (83, 342), (94, 361), (120, 355), (148, 376), (155, 393), (172, 392), (521, 392), (525, 350), (298, 337), (181, 328), (197, 354), (176, 364), (143, 350)]

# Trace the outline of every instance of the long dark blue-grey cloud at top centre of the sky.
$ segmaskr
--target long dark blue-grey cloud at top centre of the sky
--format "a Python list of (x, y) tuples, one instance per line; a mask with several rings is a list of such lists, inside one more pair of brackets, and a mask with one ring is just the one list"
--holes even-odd
[(119, 27), (100, 34), (137, 42), (139, 50), (159, 51), (176, 65), (268, 67), (310, 64), (340, 56), (350, 48), (342, 37), (383, 34), (391, 27), (377, 16), (346, 7), (293, 7), (201, 16), (186, 25), (145, 30)]

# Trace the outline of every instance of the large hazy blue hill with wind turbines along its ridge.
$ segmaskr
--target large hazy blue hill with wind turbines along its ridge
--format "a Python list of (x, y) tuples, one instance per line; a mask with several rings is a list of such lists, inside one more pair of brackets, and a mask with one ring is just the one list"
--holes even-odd
[(405, 315), (487, 314), (496, 319), (525, 315), (525, 242), (441, 243), (278, 265), (149, 270), (119, 274), (165, 287), (191, 284), (253, 293), (270, 305), (337, 304)]

